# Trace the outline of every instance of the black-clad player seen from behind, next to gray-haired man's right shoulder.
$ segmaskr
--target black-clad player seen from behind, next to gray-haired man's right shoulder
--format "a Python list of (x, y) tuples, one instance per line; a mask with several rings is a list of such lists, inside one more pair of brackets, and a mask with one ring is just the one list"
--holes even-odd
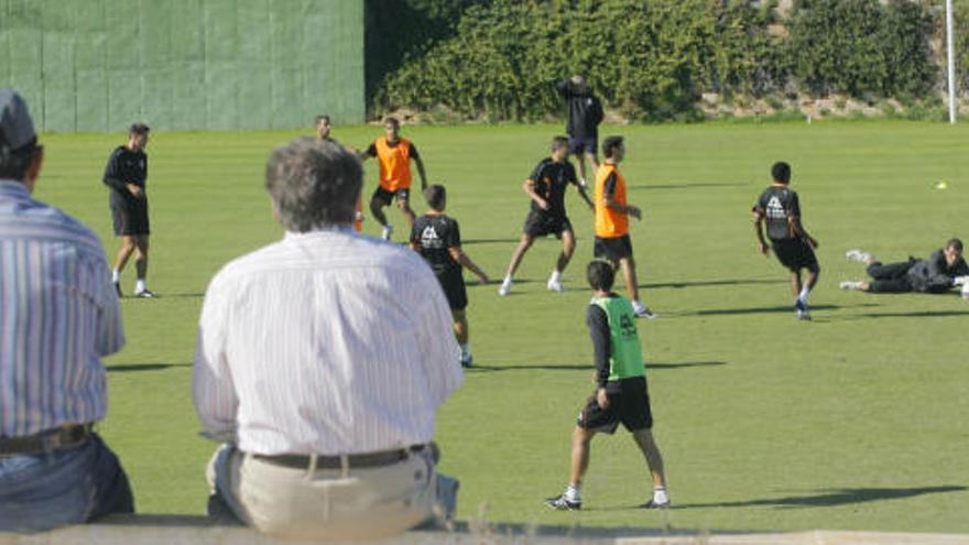
[(461, 250), (461, 232), (458, 222), (444, 214), (447, 207), (447, 190), (434, 184), (424, 192), (431, 210), (414, 221), (411, 229), (411, 249), (427, 261), (431, 270), (440, 282), (444, 295), (450, 305), (454, 316), (454, 331), (461, 347), (461, 366), (471, 367), (471, 347), (468, 342), (468, 318), (465, 308), (468, 306), (468, 294), (461, 266), (475, 273), (482, 284), (488, 283), (488, 275), (471, 261)]

